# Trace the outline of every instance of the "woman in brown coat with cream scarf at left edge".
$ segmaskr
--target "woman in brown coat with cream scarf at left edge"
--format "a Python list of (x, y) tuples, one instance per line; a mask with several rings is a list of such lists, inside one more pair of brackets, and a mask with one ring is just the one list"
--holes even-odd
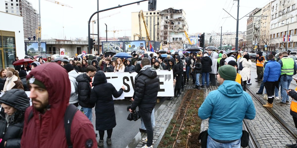
[(15, 71), (15, 69), (11, 67), (7, 67), (5, 69), (6, 71), (6, 81), (4, 83), (3, 91), (9, 91), (10, 89), (23, 89), (24, 86), (22, 81), (20, 80), (20, 77), (18, 76), (18, 71)]

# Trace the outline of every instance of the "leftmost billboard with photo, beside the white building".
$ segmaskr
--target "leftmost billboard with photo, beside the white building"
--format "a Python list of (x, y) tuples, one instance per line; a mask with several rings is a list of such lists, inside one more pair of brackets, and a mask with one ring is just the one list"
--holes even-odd
[(41, 51), (38, 50), (37, 42), (25, 42), (25, 54), (29, 56), (35, 56), (40, 54), (46, 54), (46, 42), (41, 42)]

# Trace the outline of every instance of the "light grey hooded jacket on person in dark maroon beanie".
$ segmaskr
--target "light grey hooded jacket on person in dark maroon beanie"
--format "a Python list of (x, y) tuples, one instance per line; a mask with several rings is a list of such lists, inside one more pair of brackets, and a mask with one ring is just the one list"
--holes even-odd
[(75, 70), (71, 70), (68, 73), (70, 84), (71, 84), (71, 92), (69, 103), (74, 104), (78, 102), (78, 82), (76, 81), (76, 77), (79, 74)]

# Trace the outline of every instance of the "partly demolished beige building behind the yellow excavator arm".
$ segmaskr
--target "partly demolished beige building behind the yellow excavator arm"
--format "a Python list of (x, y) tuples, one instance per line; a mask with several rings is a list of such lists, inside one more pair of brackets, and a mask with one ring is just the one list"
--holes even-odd
[[(142, 38), (146, 38), (146, 28), (143, 20), (139, 21), (139, 12), (131, 13), (131, 38), (138, 40), (135, 35), (140, 34), (141, 27)], [(146, 26), (151, 40), (160, 42), (165, 48), (171, 45), (171, 48), (182, 48), (183, 44), (189, 44), (185, 31), (188, 33), (189, 26), (186, 21), (186, 13), (183, 9), (168, 8), (162, 11), (143, 12)], [(159, 23), (159, 25), (157, 25)], [(154, 32), (155, 27), (155, 32)]]

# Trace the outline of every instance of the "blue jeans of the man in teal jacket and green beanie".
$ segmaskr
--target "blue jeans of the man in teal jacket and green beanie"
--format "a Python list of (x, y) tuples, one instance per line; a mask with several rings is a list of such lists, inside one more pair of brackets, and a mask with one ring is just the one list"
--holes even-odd
[(217, 141), (214, 141), (210, 136), (207, 137), (207, 148), (240, 148), (240, 142), (241, 140), (238, 139), (236, 141), (230, 142), (230, 143), (219, 143)]

